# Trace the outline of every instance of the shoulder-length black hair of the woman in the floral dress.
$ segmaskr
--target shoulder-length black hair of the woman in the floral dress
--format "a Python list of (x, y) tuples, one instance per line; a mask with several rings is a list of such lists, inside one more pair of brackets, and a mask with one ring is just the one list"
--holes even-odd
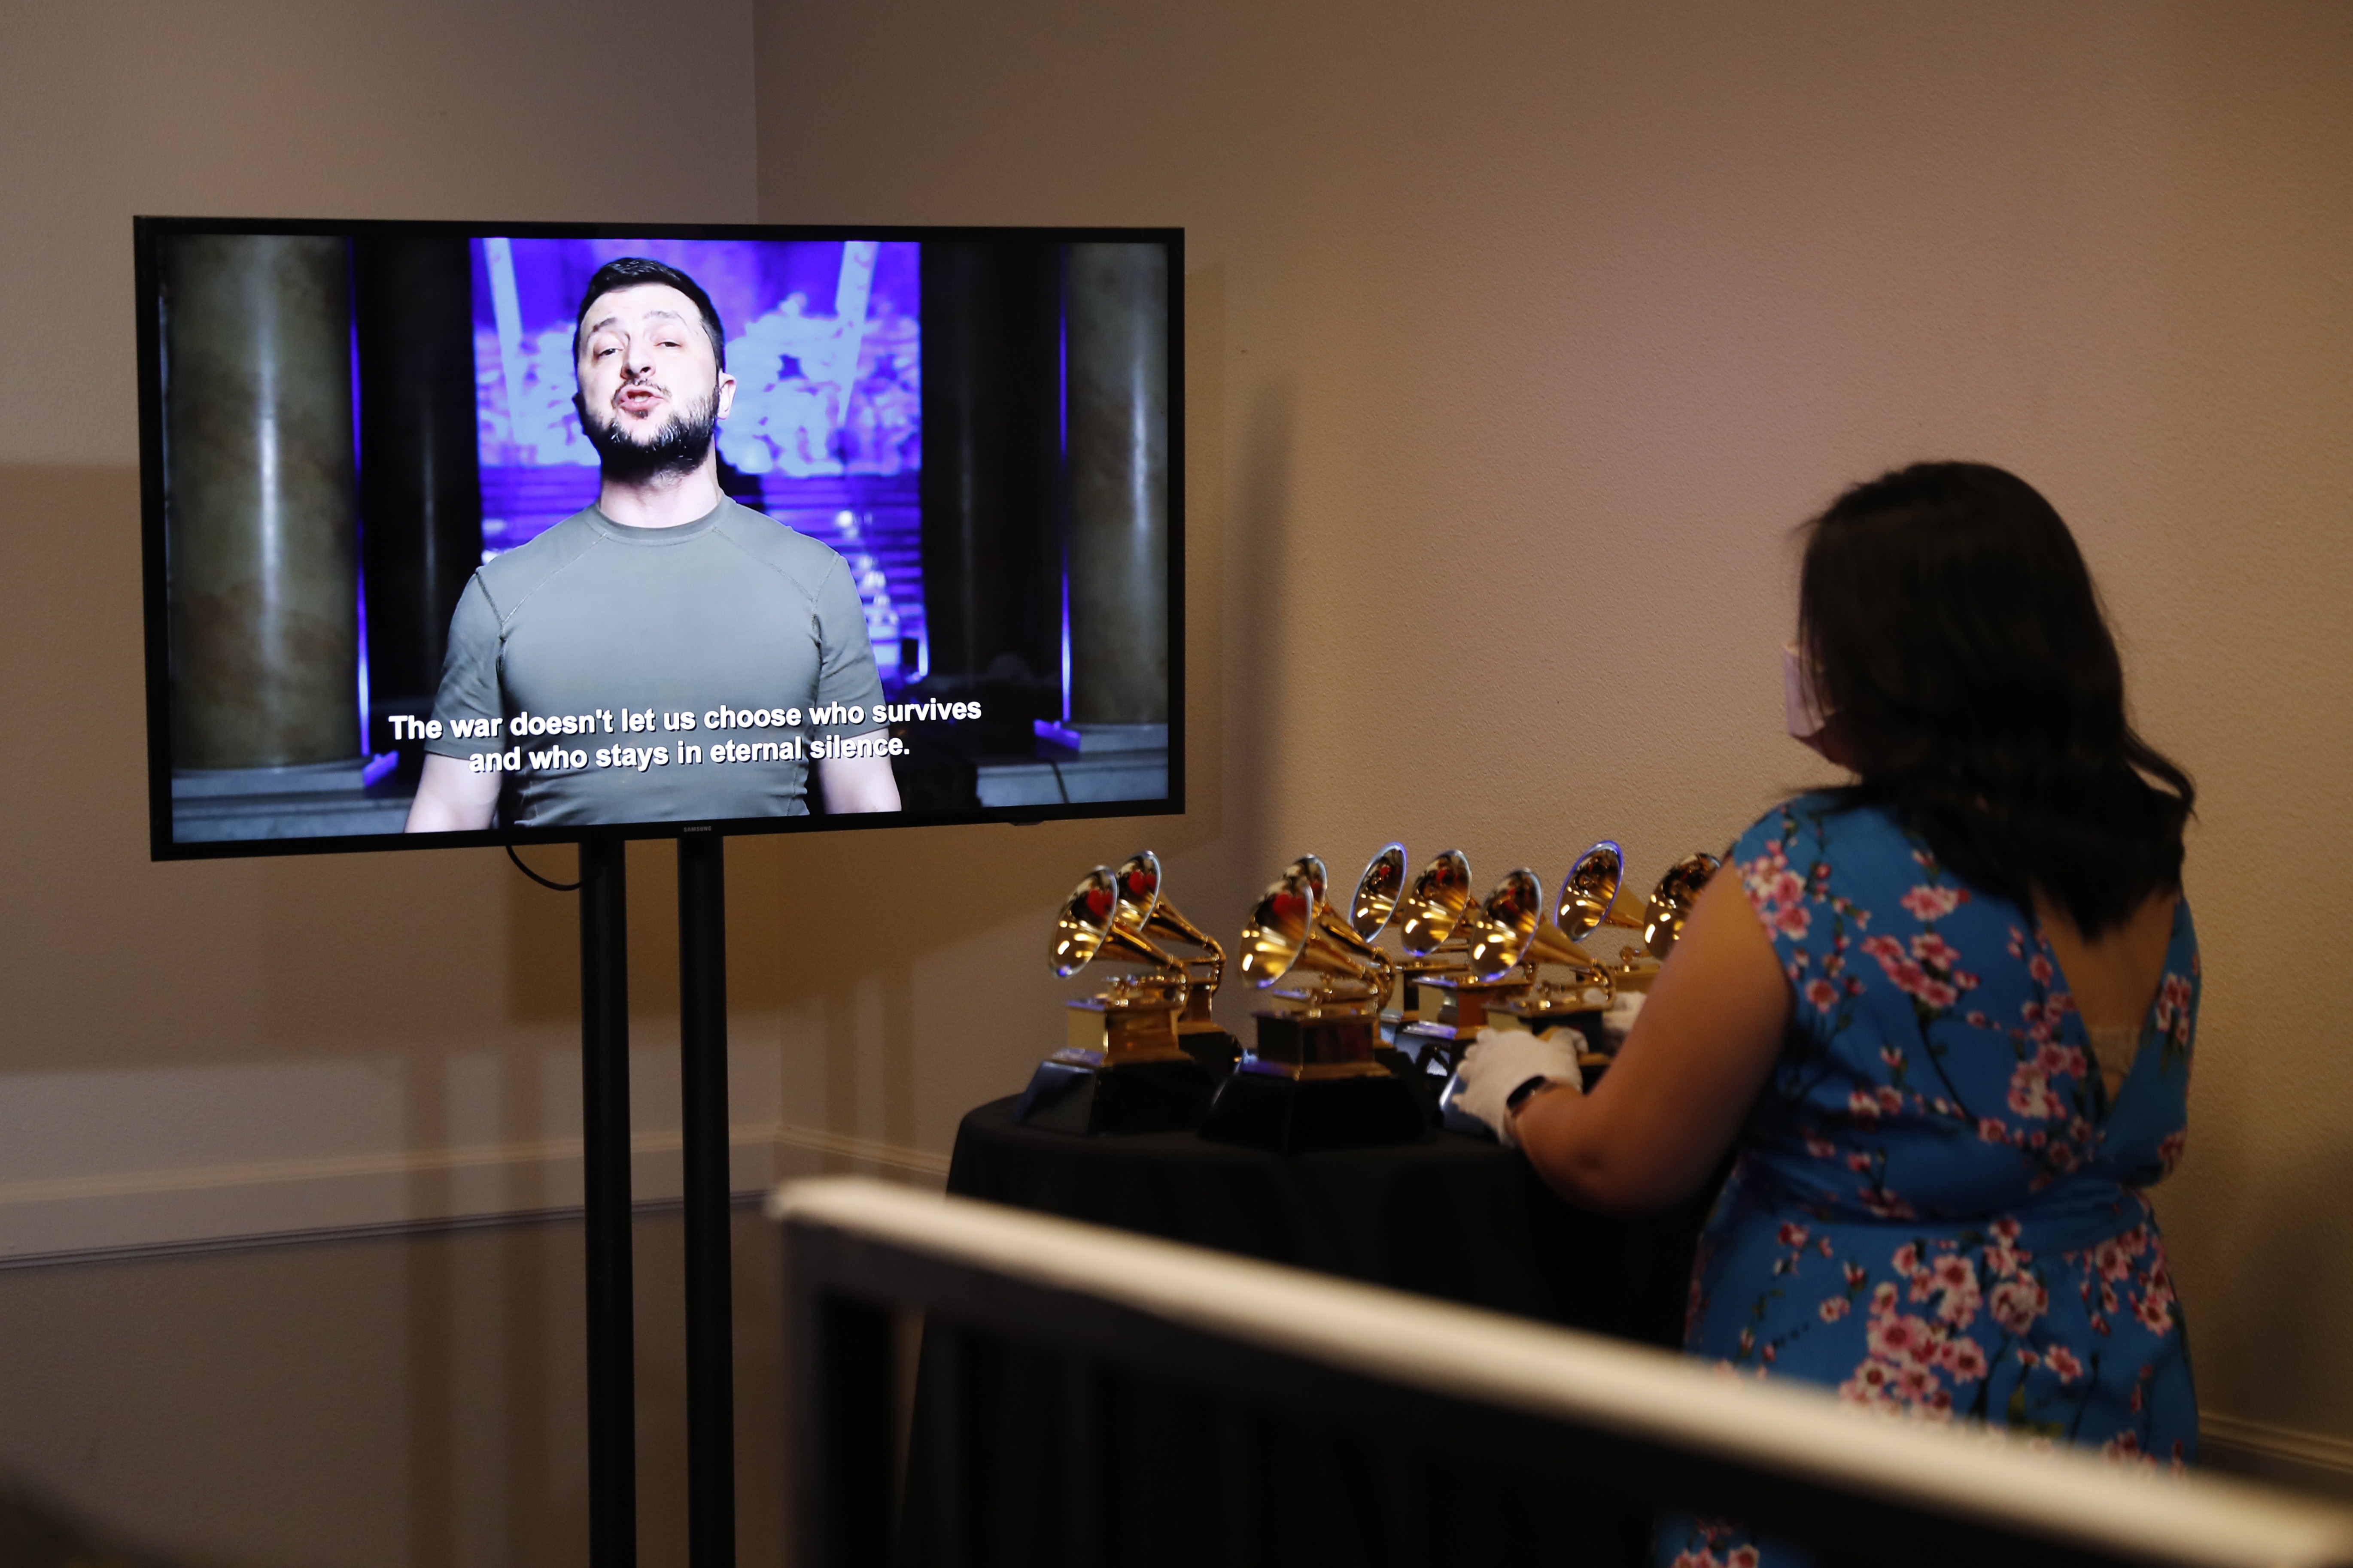
[(2075, 538), (2033, 484), (1915, 463), (1802, 529), (1798, 644), (1861, 776), (1974, 886), (2097, 938), (2181, 886), (2188, 773), (2125, 719)]

